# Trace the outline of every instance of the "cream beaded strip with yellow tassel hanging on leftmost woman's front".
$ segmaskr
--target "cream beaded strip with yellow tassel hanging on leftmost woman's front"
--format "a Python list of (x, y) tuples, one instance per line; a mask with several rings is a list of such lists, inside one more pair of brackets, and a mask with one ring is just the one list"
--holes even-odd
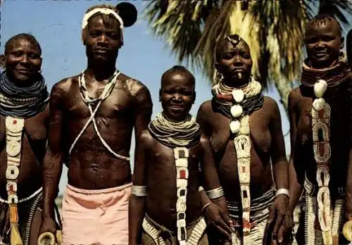
[(6, 191), (8, 194), (7, 203), (10, 208), (11, 244), (23, 244), (20, 232), (18, 231), (17, 181), (20, 175), (21, 139), (25, 120), (7, 116), (5, 125), (7, 153)]

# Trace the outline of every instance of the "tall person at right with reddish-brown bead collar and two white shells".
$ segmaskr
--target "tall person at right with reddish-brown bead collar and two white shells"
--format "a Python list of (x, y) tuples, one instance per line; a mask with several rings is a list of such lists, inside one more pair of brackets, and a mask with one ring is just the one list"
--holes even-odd
[(291, 211), (303, 190), (296, 240), (345, 244), (341, 232), (351, 147), (351, 69), (341, 51), (341, 28), (331, 16), (310, 20), (305, 44), (301, 86), (289, 94)]

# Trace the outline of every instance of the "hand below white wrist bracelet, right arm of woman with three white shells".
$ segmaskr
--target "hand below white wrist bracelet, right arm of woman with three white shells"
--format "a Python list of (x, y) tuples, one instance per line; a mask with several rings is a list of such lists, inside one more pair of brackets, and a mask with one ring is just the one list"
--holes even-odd
[(290, 244), (292, 235), (292, 213), (289, 211), (289, 197), (281, 194), (275, 198), (269, 214), (271, 244)]

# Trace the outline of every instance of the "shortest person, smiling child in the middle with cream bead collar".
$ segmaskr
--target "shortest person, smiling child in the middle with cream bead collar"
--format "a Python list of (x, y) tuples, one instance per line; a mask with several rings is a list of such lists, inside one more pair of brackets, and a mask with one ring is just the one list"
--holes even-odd
[[(206, 245), (202, 213), (212, 213), (214, 208), (219, 212), (213, 224), (230, 238), (226, 202), (210, 142), (201, 136), (199, 124), (189, 114), (196, 98), (194, 87), (194, 76), (182, 66), (170, 68), (161, 78), (163, 112), (149, 123), (135, 151), (131, 245)], [(199, 189), (199, 163), (203, 187), (218, 205), (209, 200), (204, 203), (208, 198)]]

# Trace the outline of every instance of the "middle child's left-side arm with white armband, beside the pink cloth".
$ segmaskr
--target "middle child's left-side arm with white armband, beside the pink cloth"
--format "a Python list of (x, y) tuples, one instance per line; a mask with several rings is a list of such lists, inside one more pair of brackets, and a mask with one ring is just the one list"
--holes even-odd
[(149, 132), (142, 132), (139, 143), (134, 152), (134, 174), (132, 195), (129, 206), (129, 244), (140, 243), (142, 220), (144, 218), (144, 207), (146, 202), (146, 142)]

